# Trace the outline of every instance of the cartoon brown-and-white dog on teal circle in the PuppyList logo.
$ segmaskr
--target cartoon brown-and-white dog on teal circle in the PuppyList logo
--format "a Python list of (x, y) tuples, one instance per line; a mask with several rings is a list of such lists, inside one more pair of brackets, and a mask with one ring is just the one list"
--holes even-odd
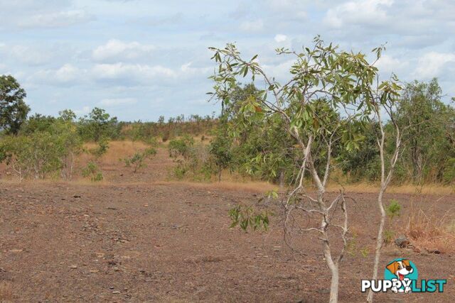
[[(415, 275), (412, 275), (416, 271)], [(387, 275), (388, 274), (388, 275)], [(390, 277), (390, 274), (393, 277)], [(388, 276), (388, 279), (387, 279)], [(384, 277), (387, 280), (392, 280), (393, 287), (392, 292), (411, 292), (410, 280), (417, 280), (417, 268), (414, 264), (411, 264), (410, 260), (407, 259), (397, 259), (393, 260), (392, 263), (387, 264), (385, 267)], [(397, 283), (396, 281), (400, 281)], [(401, 285), (401, 287), (398, 287)]]

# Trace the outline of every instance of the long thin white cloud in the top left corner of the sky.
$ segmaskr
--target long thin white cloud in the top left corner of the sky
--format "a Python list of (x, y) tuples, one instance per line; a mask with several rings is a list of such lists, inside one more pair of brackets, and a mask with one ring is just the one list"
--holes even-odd
[(56, 11), (28, 16), (19, 21), (18, 26), (21, 28), (59, 28), (94, 19), (94, 16), (84, 10)]

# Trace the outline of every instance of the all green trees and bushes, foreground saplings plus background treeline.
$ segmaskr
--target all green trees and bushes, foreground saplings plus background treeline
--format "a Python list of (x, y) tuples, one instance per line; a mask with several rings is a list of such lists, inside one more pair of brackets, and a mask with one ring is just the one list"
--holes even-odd
[[(387, 224), (400, 212), (399, 203), (383, 201), (387, 187), (455, 186), (454, 99), (444, 99), (437, 79), (403, 83), (392, 75), (382, 81), (365, 54), (340, 50), (319, 37), (309, 48), (277, 50), (295, 60), (288, 82), (281, 84), (264, 72), (257, 56), (244, 58), (235, 45), (210, 50), (216, 69), (208, 98), (218, 102), (217, 116), (118, 121), (100, 108), (82, 117), (71, 110), (58, 117), (29, 115), (25, 90), (14, 77), (1, 76), (0, 161), (14, 176), (1, 178), (100, 182), (109, 142), (140, 141), (146, 148), (118, 159), (134, 174), (148, 170), (157, 150), (165, 149), (174, 164), (169, 174), (177, 180), (221, 182), (236, 175), (271, 182), (280, 190), (264, 197), (281, 202), (289, 246), (302, 236), (296, 213), (319, 222), (303, 233), (321, 241), (331, 273), (330, 302), (337, 302), (339, 264), (352, 247), (352, 201), (344, 186), (374, 184), (372, 209), (380, 224), (372, 277), (377, 278), (381, 248), (394, 237)], [(373, 50), (377, 59), (383, 50)], [(89, 159), (86, 165), (79, 162), (82, 156)], [(330, 199), (329, 184), (337, 187)], [(232, 226), (244, 230), (267, 229), (271, 214), (264, 206), (242, 204), (229, 213)], [(341, 239), (340, 247), (331, 246), (332, 237)]]

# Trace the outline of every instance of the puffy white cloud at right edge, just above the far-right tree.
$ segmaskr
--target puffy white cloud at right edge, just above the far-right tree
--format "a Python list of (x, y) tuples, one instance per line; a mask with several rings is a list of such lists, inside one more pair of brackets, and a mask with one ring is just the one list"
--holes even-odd
[(429, 52), (419, 58), (414, 75), (419, 79), (437, 77), (444, 68), (449, 68), (454, 63), (454, 53)]

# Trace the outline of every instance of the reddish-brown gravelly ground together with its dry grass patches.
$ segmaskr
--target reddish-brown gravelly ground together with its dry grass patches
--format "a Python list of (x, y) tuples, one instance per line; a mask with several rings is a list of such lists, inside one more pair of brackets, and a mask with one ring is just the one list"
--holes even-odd
[[(90, 147), (90, 146), (88, 146)], [(221, 182), (176, 181), (166, 144), (133, 172), (119, 158), (144, 143), (112, 141), (98, 160), (104, 179), (18, 182), (2, 166), (1, 302), (327, 302), (330, 277), (311, 233), (283, 241), (280, 202), (267, 231), (230, 228), (228, 211), (277, 188), (223, 172)], [(76, 171), (90, 160), (77, 159)], [(336, 184), (331, 184), (333, 195)], [(375, 184), (346, 187), (350, 243), (341, 263), (341, 302), (365, 302), (377, 233)], [(450, 187), (391, 187), (402, 209), (387, 231), (381, 265), (409, 258), (419, 278), (447, 279), (444, 293), (377, 294), (378, 302), (451, 302), (455, 295), (455, 194)], [(309, 218), (311, 221), (311, 218)], [(393, 243), (406, 235), (412, 246)], [(333, 243), (337, 245), (336, 239)], [(381, 269), (383, 270), (383, 269)], [(380, 271), (381, 271), (380, 270)], [(382, 272), (380, 272), (382, 275)]]

